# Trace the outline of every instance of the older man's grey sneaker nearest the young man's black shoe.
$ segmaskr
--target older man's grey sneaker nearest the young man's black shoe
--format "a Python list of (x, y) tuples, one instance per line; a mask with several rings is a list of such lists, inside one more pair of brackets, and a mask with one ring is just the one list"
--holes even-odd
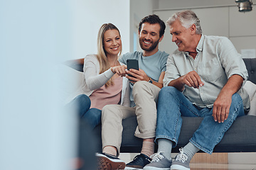
[(151, 155), (151, 163), (144, 166), (143, 170), (170, 170), (171, 160), (164, 157), (162, 152)]

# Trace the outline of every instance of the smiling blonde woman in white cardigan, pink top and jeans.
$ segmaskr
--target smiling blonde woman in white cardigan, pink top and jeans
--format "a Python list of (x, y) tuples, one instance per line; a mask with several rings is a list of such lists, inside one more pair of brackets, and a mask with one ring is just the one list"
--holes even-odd
[(84, 60), (83, 94), (70, 103), (78, 106), (80, 118), (87, 120), (92, 128), (100, 124), (105, 105), (130, 105), (127, 66), (118, 61), (121, 52), (118, 28), (112, 23), (103, 24), (97, 35), (97, 55), (87, 55)]

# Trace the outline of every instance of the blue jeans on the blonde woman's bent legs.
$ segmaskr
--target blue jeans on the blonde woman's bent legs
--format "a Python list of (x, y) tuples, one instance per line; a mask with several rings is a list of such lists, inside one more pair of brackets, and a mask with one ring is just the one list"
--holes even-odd
[(90, 108), (90, 104), (90, 98), (85, 94), (80, 94), (68, 103), (69, 106), (76, 108), (81, 120), (86, 121), (93, 129), (100, 124), (102, 111), (97, 108)]

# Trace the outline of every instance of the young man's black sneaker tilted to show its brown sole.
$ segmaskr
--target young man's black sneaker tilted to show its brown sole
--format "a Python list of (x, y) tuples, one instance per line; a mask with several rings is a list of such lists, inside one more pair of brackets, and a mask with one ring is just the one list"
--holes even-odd
[(97, 170), (124, 169), (125, 162), (112, 154), (96, 153)]

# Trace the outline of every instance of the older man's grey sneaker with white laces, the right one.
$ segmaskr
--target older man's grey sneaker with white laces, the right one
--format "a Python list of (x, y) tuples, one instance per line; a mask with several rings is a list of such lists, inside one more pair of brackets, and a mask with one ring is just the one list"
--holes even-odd
[(190, 170), (188, 156), (184, 154), (183, 148), (179, 149), (180, 153), (175, 157), (171, 165), (171, 170)]

